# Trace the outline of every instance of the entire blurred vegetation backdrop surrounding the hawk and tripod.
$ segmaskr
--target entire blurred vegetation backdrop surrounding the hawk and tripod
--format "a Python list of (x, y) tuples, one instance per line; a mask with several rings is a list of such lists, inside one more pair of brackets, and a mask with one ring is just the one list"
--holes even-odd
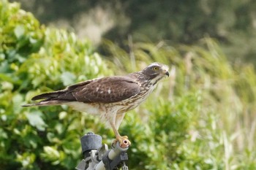
[(154, 61), (170, 78), (121, 124), (129, 169), (256, 169), (255, 1), (20, 3), (33, 15), (0, 1), (1, 169), (74, 169), (89, 131), (110, 144), (86, 113), (20, 105)]

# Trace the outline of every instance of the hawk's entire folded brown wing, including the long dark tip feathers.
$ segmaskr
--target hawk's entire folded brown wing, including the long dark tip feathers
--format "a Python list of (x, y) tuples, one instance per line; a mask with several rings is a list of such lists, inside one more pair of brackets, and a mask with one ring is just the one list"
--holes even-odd
[(113, 103), (140, 93), (138, 82), (129, 77), (104, 77), (88, 80), (51, 93), (34, 96), (32, 100), (43, 101), (82, 101), (85, 103)]

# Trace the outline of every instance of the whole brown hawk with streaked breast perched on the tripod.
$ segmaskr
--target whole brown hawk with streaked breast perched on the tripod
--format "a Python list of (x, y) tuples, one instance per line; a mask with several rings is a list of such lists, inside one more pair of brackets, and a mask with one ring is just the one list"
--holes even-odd
[(23, 107), (67, 104), (80, 112), (99, 115), (113, 128), (115, 142), (129, 145), (128, 137), (118, 133), (125, 112), (135, 109), (145, 101), (157, 82), (169, 76), (168, 69), (165, 64), (151, 63), (140, 72), (87, 80), (70, 85), (64, 90), (42, 93), (31, 99), (42, 99), (41, 101)]

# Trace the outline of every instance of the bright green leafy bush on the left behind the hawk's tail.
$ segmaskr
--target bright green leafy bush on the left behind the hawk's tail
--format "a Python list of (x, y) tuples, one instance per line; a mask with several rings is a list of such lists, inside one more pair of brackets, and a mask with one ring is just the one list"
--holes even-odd
[(40, 26), (15, 3), (1, 1), (0, 13), (1, 169), (73, 169), (80, 136), (89, 131), (83, 120), (91, 127), (90, 118), (67, 107), (20, 106), (36, 94), (111, 72), (75, 34)]

